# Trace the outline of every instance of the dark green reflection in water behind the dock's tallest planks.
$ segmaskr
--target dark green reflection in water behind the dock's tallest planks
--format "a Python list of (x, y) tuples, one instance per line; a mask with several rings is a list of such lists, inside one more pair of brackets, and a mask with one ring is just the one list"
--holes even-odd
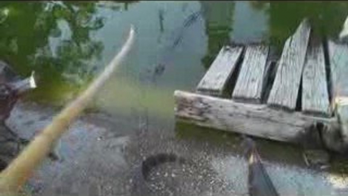
[[(264, 9), (263, 6), (254, 8)], [(269, 14), (270, 42), (280, 51), (285, 40), (293, 34), (304, 17), (310, 19), (313, 29), (319, 35), (337, 38), (348, 14), (347, 10), (347, 2), (270, 2), (266, 9)]]

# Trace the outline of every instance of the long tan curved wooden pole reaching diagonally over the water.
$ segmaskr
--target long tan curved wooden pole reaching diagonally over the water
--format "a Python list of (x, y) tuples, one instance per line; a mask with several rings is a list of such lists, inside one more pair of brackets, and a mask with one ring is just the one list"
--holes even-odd
[(43, 132), (35, 137), (10, 165), (0, 173), (0, 194), (13, 195), (13, 193), (18, 193), (21, 190), (22, 185), (33, 171), (40, 166), (41, 162), (55, 146), (56, 141), (67, 130), (68, 125), (77, 118), (125, 58), (134, 42), (134, 34), (134, 29), (131, 26), (127, 41), (105, 70), (76, 100), (55, 116)]

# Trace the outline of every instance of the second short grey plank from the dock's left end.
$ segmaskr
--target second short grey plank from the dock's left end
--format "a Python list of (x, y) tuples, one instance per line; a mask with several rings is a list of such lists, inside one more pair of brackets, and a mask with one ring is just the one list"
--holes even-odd
[(268, 49), (263, 45), (247, 47), (232, 93), (233, 99), (260, 103)]

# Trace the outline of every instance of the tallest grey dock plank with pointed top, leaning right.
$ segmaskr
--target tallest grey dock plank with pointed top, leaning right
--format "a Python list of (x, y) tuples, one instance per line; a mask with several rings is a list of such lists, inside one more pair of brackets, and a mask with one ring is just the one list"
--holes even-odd
[(268, 105), (295, 109), (309, 35), (310, 25), (305, 19), (295, 34), (286, 41), (268, 97)]

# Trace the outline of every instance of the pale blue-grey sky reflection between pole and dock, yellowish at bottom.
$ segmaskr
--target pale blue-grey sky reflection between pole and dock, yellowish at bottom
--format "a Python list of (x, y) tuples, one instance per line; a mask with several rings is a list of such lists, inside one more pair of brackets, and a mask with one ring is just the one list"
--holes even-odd
[(118, 35), (133, 23), (137, 37), (129, 58), (97, 97), (97, 107), (109, 113), (144, 110), (172, 118), (173, 91), (191, 88), (204, 71), (200, 58), (205, 37), (199, 10), (197, 2), (141, 2), (127, 13), (103, 13), (111, 15), (108, 25), (97, 32), (106, 46), (105, 57), (118, 47), (109, 48), (109, 40), (123, 41), (110, 36), (115, 35), (115, 24)]

